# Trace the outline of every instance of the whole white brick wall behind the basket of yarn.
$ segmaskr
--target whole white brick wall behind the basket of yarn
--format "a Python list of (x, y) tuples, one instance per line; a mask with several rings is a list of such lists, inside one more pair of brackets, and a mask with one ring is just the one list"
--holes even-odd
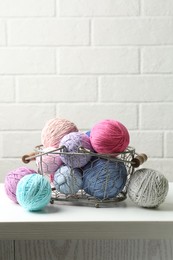
[(0, 181), (56, 116), (121, 121), (173, 181), (173, 1), (0, 0)]

